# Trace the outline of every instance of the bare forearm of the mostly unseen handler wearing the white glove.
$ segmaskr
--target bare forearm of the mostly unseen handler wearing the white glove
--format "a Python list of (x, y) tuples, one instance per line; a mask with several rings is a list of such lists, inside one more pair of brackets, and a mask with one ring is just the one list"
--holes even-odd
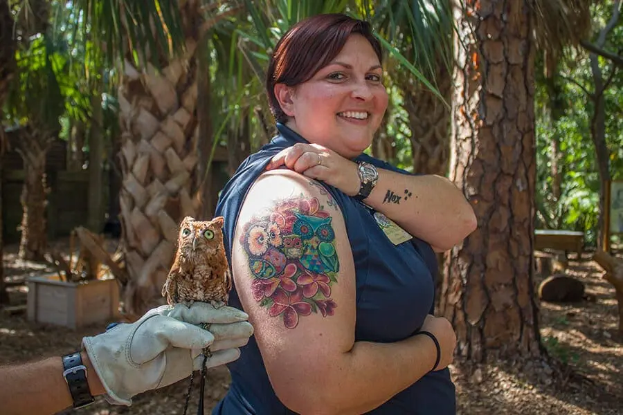
[[(93, 396), (105, 393), (100, 379), (93, 371), (87, 353), (82, 352), (87, 367), (87, 380)], [(0, 367), (0, 402), (2, 414), (55, 414), (73, 405), (69, 388), (63, 378), (60, 357), (39, 362)]]

